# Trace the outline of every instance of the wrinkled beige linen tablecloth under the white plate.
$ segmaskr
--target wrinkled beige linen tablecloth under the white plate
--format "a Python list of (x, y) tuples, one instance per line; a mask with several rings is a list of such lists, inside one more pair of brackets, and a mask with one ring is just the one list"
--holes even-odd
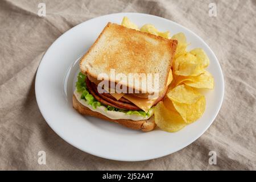
[[(209, 16), (209, 3), (217, 16)], [(38, 16), (39, 3), (46, 17)], [(47, 48), (65, 31), (97, 16), (138, 12), (189, 28), (213, 49), (225, 97), (213, 125), (174, 154), (118, 162), (86, 154), (47, 125), (35, 99), (35, 75)], [(256, 1), (0, 1), (0, 169), (256, 169)], [(166, 142), (166, 141), (163, 141)], [(171, 142), (171, 141), (170, 141)], [(38, 152), (46, 164), (38, 164)], [(216, 151), (217, 164), (208, 163)]]

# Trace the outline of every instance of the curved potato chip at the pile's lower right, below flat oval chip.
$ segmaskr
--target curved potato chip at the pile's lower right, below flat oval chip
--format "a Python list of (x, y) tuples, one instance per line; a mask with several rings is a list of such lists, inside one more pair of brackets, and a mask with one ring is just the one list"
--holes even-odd
[(205, 111), (205, 97), (201, 96), (193, 104), (183, 104), (179, 102), (172, 101), (175, 109), (181, 115), (186, 123), (193, 123), (199, 119)]

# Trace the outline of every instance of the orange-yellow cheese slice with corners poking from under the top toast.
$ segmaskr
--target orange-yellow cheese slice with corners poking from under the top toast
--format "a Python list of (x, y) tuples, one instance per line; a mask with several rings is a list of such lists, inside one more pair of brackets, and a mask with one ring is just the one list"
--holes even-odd
[[(173, 80), (172, 77), (172, 70), (170, 71), (168, 75), (168, 80), (166, 86), (169, 86)], [(111, 95), (116, 99), (119, 100), (121, 97), (126, 98), (130, 102), (133, 102), (133, 104), (137, 105), (140, 109), (147, 112), (154, 104), (155, 100), (148, 100), (147, 98), (140, 98), (135, 97), (131, 94), (124, 94), (124, 93), (111, 93)]]

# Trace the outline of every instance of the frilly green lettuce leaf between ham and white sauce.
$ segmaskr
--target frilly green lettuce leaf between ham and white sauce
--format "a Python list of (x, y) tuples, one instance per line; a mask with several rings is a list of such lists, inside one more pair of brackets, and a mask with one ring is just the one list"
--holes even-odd
[(106, 111), (110, 110), (110, 111), (122, 112), (125, 114), (137, 114), (143, 117), (150, 116), (150, 111), (147, 111), (146, 113), (143, 110), (122, 110), (113, 106), (102, 104), (101, 102), (97, 101), (92, 94), (88, 92), (85, 79), (86, 79), (86, 75), (80, 72), (79, 75), (77, 76), (76, 89), (77, 89), (77, 92), (81, 93), (81, 99), (88, 101), (88, 104), (91, 105), (93, 109), (96, 109), (98, 106), (105, 106)]

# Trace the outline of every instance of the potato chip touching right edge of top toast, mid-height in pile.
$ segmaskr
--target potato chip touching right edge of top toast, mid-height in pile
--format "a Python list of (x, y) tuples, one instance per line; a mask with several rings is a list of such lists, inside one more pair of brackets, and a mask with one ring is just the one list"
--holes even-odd
[(191, 53), (179, 56), (174, 60), (174, 73), (180, 76), (198, 76), (204, 69), (197, 63), (196, 56)]

